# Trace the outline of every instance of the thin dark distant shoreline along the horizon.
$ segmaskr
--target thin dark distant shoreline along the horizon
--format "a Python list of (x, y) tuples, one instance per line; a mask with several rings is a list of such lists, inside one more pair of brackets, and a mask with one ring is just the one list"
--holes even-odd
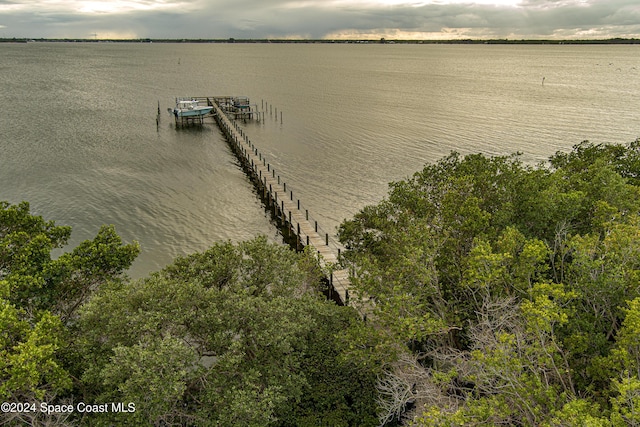
[(602, 39), (602, 40), (325, 40), (325, 39), (56, 39), (56, 38), (0, 38), (0, 43), (29, 43), (29, 42), (58, 42), (58, 43), (264, 43), (264, 44), (571, 44), (571, 45), (592, 45), (592, 44), (640, 44), (640, 39)]

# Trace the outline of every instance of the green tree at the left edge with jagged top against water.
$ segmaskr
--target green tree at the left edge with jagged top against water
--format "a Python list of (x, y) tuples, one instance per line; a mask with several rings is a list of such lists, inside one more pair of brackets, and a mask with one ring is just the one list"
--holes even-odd
[(122, 245), (112, 227), (103, 227), (93, 241), (52, 260), (51, 251), (63, 247), (70, 233), (70, 227), (32, 215), (26, 202), (0, 202), (0, 397), (5, 400), (43, 400), (71, 389), (67, 322), (92, 290), (119, 277), (138, 252), (135, 244)]

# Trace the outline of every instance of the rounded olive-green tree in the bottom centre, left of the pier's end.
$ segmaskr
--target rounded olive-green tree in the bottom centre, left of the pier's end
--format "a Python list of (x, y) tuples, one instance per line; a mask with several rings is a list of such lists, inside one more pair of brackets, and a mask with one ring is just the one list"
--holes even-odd
[[(372, 374), (337, 360), (334, 328), (355, 315), (324, 301), (319, 279), (309, 254), (257, 238), (215, 244), (146, 279), (111, 283), (81, 311), (85, 393), (137, 402), (135, 420), (126, 420), (134, 424), (371, 419)], [(122, 414), (98, 419), (123, 422)]]

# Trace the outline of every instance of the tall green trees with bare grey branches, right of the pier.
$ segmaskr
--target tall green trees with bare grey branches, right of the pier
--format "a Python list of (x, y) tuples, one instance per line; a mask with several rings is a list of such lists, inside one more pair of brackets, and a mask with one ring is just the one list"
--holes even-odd
[(351, 354), (387, 386), (403, 353), (423, 361), (385, 407), (414, 402), (416, 425), (636, 422), (639, 147), (583, 142), (536, 167), (454, 153), (343, 223), (373, 301)]

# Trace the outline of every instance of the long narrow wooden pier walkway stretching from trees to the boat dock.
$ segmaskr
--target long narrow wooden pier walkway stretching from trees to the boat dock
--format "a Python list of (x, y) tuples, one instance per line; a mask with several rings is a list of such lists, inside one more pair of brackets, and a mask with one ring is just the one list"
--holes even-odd
[[(212, 113), (216, 123), (258, 191), (273, 209), (282, 228), (286, 230), (288, 236), (285, 238), (289, 237), (290, 243), (297, 250), (311, 246), (317, 251), (321, 265), (329, 271), (327, 279), (330, 296), (341, 304), (349, 305), (349, 272), (339, 268), (340, 252), (344, 248), (333, 235), (318, 226), (318, 222), (302, 206), (300, 199), (294, 197), (291, 186), (281, 179), (242, 128), (228, 117), (228, 112), (223, 111), (221, 105), (228, 105), (231, 98), (211, 96), (196, 99), (206, 99), (208, 105), (214, 107)], [(234, 116), (233, 112), (231, 115)]]

